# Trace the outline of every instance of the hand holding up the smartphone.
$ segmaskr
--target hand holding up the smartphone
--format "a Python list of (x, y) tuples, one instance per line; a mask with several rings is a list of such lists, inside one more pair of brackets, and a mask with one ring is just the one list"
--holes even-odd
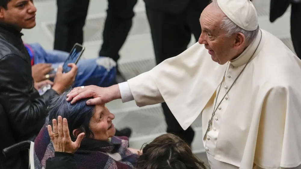
[(71, 70), (67, 73), (63, 73), (62, 66), (59, 66), (57, 68), (52, 89), (58, 93), (62, 93), (75, 81), (75, 77), (77, 74), (77, 66), (74, 63), (69, 63), (68, 67), (71, 67)]

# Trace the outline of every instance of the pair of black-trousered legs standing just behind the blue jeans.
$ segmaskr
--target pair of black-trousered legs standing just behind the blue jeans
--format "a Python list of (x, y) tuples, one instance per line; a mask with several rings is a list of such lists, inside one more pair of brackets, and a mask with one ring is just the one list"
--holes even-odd
[[(104, 23), (103, 44), (98, 56), (110, 57), (116, 63), (132, 27), (133, 8), (137, 0), (108, 0), (107, 18)], [(75, 43), (83, 44), (83, 27), (89, 0), (57, 0), (57, 21), (54, 50), (70, 52)], [(101, 12), (101, 11), (100, 11)], [(126, 81), (116, 69), (116, 83)]]

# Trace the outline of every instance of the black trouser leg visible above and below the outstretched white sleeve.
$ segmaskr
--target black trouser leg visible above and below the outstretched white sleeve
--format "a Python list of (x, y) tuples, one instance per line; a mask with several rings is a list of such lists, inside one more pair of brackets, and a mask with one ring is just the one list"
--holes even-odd
[[(191, 30), (186, 23), (186, 12), (167, 14), (147, 6), (146, 12), (151, 28), (157, 64), (165, 59), (177, 56), (187, 49), (191, 39)], [(179, 136), (191, 145), (194, 138), (194, 130), (189, 127), (184, 131), (166, 103), (162, 103), (162, 108), (167, 124), (167, 132)]]

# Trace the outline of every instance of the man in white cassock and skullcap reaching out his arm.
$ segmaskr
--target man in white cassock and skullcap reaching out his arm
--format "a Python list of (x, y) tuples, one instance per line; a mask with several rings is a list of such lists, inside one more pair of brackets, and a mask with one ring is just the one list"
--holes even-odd
[(166, 102), (185, 130), (202, 116), (212, 169), (301, 168), (301, 61), (259, 29), (249, 0), (213, 0), (198, 43), (127, 82), (73, 89), (68, 101)]

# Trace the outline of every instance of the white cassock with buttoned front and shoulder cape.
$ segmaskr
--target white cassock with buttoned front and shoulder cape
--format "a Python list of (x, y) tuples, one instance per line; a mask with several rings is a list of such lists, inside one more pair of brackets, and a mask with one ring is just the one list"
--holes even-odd
[[(202, 115), (203, 136), (217, 103), (260, 40), (235, 60), (219, 65), (198, 43), (119, 84), (123, 102), (166, 102), (186, 130)], [(212, 169), (301, 168), (301, 61), (282, 41), (262, 30), (253, 59), (228, 92), (203, 141)], [(299, 167), (298, 167), (299, 166)]]

